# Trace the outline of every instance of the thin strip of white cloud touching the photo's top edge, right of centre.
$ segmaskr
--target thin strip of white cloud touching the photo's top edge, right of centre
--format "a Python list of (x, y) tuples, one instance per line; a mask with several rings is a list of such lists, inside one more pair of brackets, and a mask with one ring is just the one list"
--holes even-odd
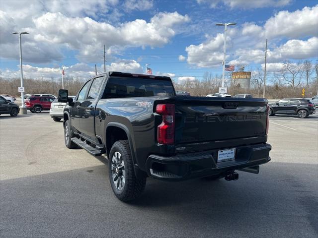
[(281, 7), (288, 5), (291, 0), (197, 0), (198, 3), (209, 3), (210, 7), (218, 7), (223, 3), (231, 8), (264, 8), (264, 7)]

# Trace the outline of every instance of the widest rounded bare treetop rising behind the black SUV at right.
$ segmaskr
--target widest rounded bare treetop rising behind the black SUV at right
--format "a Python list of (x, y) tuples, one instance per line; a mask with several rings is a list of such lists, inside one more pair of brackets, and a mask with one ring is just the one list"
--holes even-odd
[(303, 73), (304, 67), (301, 61), (298, 61), (297, 63), (293, 63), (289, 60), (283, 62), (281, 75), (285, 82), (293, 89), (301, 84)]

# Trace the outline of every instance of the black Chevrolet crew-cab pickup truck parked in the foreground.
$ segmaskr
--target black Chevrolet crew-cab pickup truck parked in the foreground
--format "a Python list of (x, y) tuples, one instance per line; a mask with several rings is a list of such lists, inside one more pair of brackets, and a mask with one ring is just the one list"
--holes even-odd
[(169, 77), (108, 72), (58, 100), (68, 102), (66, 146), (107, 154), (122, 201), (140, 196), (147, 177), (236, 180), (270, 161), (266, 99), (177, 97)]

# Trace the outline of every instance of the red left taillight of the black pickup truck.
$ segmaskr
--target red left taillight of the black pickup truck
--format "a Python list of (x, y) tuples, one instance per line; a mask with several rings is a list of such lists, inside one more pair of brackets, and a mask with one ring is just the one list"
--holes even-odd
[(171, 145), (174, 143), (174, 104), (158, 104), (156, 113), (162, 116), (162, 122), (157, 129), (159, 144)]

